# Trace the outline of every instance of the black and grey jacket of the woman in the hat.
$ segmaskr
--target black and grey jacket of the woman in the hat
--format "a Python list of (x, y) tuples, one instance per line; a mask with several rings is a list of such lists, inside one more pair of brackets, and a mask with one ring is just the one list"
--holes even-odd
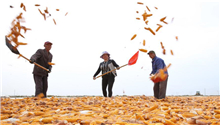
[[(102, 74), (104, 74), (108, 71), (115, 69), (115, 67), (119, 67), (119, 65), (113, 59), (109, 59), (107, 62), (103, 61), (99, 64), (99, 68), (96, 71), (96, 73), (94, 74), (94, 77), (96, 77), (101, 71), (102, 71)], [(116, 71), (113, 71), (111, 73), (114, 76), (117, 76)], [(109, 73), (109, 74), (111, 74), (111, 73)], [(108, 75), (108, 74), (106, 74), (106, 75)]]

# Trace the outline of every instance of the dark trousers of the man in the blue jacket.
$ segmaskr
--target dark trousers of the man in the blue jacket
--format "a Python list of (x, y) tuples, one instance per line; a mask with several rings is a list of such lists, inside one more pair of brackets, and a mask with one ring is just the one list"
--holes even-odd
[(163, 99), (166, 97), (166, 89), (167, 89), (167, 80), (154, 83), (154, 97), (157, 99)]

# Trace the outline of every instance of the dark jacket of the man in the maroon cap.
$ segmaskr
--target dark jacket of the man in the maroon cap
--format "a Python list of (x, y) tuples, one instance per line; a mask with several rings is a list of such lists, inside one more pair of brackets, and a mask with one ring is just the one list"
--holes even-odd
[[(38, 49), (37, 52), (31, 56), (39, 65), (49, 69), (51, 71), (52, 66), (48, 62), (52, 62), (53, 55), (47, 52), (45, 49)], [(48, 76), (48, 72), (38, 66), (34, 66), (33, 74), (40, 76)]]

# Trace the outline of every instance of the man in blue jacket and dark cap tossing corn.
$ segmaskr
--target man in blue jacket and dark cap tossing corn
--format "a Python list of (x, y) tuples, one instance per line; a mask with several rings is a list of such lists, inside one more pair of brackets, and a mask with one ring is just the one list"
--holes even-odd
[[(153, 50), (149, 51), (148, 55), (152, 59), (152, 71), (150, 73), (150, 76), (155, 75), (156, 73), (159, 72), (160, 69), (163, 69), (166, 67), (164, 60), (157, 57), (156, 53)], [(153, 90), (154, 90), (154, 97), (156, 99), (163, 99), (166, 97), (168, 72), (166, 71), (164, 73), (167, 74), (166, 80), (154, 83)]]

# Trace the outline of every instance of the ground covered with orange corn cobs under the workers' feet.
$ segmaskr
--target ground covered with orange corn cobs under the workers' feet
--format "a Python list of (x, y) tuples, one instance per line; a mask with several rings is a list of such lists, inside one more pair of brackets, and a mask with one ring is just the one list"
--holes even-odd
[[(7, 121), (14, 119), (14, 121)], [(220, 123), (220, 98), (147, 96), (1, 98), (5, 125), (180, 125)]]

